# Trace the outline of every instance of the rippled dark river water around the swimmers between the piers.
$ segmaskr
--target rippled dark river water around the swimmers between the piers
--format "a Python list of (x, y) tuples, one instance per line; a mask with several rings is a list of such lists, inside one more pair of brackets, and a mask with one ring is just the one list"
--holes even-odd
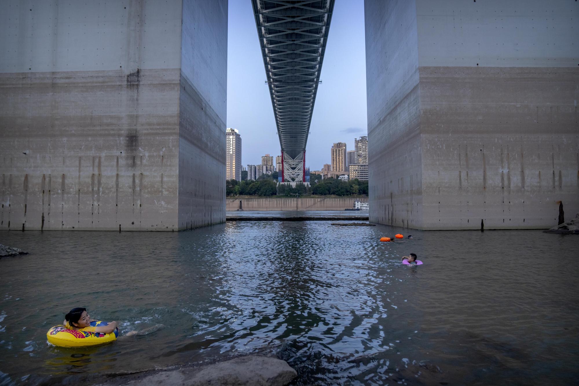
[[(350, 221), (348, 221), (350, 222)], [(413, 239), (380, 243), (380, 236)], [(184, 232), (0, 232), (0, 384), (276, 353), (294, 384), (573, 384), (579, 237), (329, 221)], [(416, 253), (424, 264), (400, 258)], [(72, 307), (164, 329), (50, 347)]]

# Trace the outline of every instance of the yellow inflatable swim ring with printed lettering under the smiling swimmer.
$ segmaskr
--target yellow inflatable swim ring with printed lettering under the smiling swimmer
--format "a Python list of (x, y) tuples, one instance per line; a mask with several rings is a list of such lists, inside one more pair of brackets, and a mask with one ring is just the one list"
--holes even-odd
[[(92, 327), (106, 326), (107, 322), (90, 322)], [(104, 344), (114, 342), (119, 335), (119, 330), (115, 329), (112, 333), (95, 333), (82, 330), (71, 330), (63, 325), (50, 327), (46, 333), (48, 341), (58, 347), (87, 347), (96, 346), (97, 344)]]

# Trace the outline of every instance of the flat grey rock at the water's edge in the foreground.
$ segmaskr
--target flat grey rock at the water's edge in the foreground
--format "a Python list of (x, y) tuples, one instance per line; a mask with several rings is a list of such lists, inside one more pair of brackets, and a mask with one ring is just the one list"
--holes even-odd
[(200, 368), (121, 376), (101, 385), (283, 386), (297, 375), (284, 360), (249, 355)]

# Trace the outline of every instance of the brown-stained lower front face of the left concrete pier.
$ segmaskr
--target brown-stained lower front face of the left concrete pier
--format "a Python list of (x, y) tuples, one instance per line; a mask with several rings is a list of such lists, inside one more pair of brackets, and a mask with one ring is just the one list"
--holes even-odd
[(0, 74), (0, 229), (176, 229), (178, 74)]

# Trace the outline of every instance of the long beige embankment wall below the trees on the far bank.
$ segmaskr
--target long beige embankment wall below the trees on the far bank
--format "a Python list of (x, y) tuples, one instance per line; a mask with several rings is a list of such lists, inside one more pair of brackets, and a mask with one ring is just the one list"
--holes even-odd
[(227, 198), (227, 210), (344, 210), (354, 202), (368, 202), (367, 197), (235, 197)]

